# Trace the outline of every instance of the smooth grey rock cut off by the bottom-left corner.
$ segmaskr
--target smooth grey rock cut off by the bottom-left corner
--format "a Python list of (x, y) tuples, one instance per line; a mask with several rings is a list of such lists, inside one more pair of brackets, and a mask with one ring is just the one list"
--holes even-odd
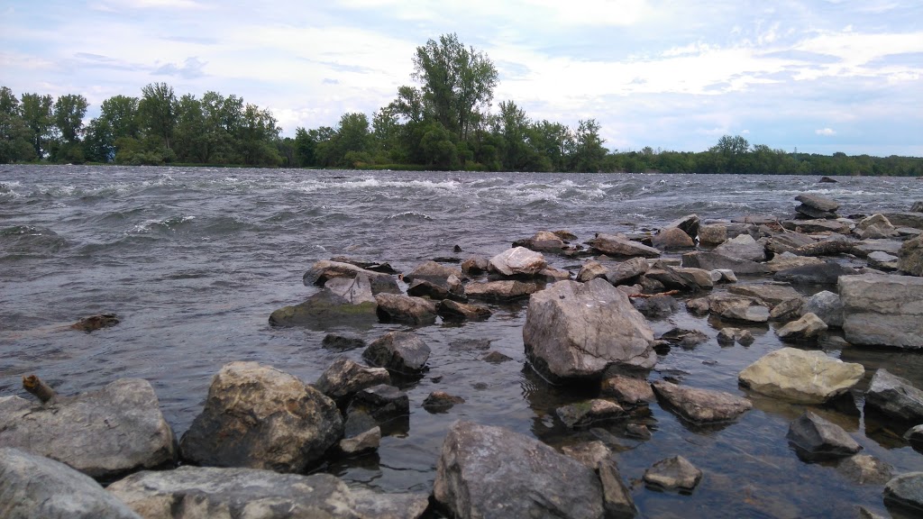
[(0, 517), (140, 519), (91, 477), (44, 456), (0, 448)]

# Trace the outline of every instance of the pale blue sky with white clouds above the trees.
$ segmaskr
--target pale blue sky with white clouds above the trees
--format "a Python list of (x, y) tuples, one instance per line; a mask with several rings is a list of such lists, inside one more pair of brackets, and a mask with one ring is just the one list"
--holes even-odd
[(166, 82), (294, 136), (371, 117), (451, 32), (497, 67), (495, 113), (593, 118), (610, 150), (923, 156), (919, 0), (0, 0), (0, 86), (82, 94), (89, 122)]

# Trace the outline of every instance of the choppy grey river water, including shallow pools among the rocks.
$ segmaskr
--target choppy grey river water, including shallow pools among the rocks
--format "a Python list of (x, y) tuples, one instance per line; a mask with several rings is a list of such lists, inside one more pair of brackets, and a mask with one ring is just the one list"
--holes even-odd
[[(321, 348), (324, 332), (271, 328), (270, 312), (313, 293), (302, 275), (317, 259), (347, 255), (389, 261), (407, 272), (425, 259), (493, 255), (538, 230), (596, 232), (656, 228), (695, 212), (702, 218), (792, 213), (799, 193), (841, 202), (844, 214), (902, 211), (923, 199), (906, 178), (713, 175), (367, 173), (250, 169), (0, 166), (0, 396), (22, 394), (20, 376), (37, 373), (59, 392), (98, 388), (116, 378), (150, 380), (164, 416), (182, 434), (201, 410), (210, 378), (234, 360), (256, 360), (306, 381), (339, 355)], [(458, 245), (464, 252), (455, 254)], [(549, 256), (557, 267), (579, 261)], [(651, 441), (619, 426), (568, 433), (554, 409), (586, 395), (548, 387), (525, 365), (523, 305), (495, 308), (485, 322), (416, 330), (433, 350), (430, 371), (404, 388), (409, 428), (382, 441), (377, 455), (325, 470), (380, 489), (432, 488), (438, 449), (458, 418), (505, 426), (552, 445), (604, 438), (616, 446), (622, 476), (651, 517), (853, 517), (883, 512), (880, 485), (857, 485), (832, 464), (799, 461), (785, 441), (804, 406), (754, 397), (755, 407), (725, 428), (687, 428), (651, 406)], [(115, 312), (122, 322), (93, 333), (66, 325)], [(680, 310), (653, 321), (714, 336), (716, 323)], [(335, 327), (333, 327), (335, 328)], [(359, 331), (368, 340), (398, 329)], [(743, 393), (737, 372), (780, 347), (769, 327), (756, 343), (661, 356), (652, 379)], [(451, 348), (484, 338), (513, 358)], [(923, 388), (921, 356), (848, 349), (833, 356), (887, 367)], [(355, 360), (361, 351), (347, 352)], [(430, 414), (420, 404), (442, 390), (467, 402)], [(861, 409), (860, 393), (858, 408)], [(895, 473), (923, 470), (923, 455), (859, 411), (816, 409), (843, 426)], [(705, 471), (692, 495), (645, 489), (645, 468), (681, 453)]]

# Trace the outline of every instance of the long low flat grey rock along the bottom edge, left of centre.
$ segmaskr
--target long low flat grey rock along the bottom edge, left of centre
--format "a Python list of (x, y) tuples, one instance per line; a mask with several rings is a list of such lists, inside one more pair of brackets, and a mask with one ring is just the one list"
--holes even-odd
[(145, 519), (415, 519), (424, 493), (378, 493), (329, 474), (181, 466), (139, 472), (108, 489)]

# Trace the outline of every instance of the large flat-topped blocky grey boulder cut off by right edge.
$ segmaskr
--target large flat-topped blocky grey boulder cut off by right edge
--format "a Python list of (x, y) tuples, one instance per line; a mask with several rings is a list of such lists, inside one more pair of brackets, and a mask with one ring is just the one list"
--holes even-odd
[(888, 274), (842, 276), (839, 291), (846, 341), (923, 348), (923, 278)]

